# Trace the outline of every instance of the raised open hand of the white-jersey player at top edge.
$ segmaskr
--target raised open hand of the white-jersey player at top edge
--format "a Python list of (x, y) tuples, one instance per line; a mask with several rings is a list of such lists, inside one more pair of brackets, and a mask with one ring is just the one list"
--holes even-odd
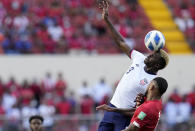
[(108, 18), (108, 8), (109, 8), (109, 3), (108, 0), (99, 0), (98, 1), (99, 8), (102, 9), (102, 19), (107, 19)]

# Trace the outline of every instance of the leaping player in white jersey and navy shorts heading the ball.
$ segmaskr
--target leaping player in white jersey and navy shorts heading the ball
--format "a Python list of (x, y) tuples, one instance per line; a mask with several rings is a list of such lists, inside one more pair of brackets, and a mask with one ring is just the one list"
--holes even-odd
[[(169, 61), (168, 54), (163, 50), (159, 50), (146, 57), (127, 46), (124, 38), (116, 31), (108, 19), (108, 1), (98, 1), (100, 9), (103, 10), (102, 18), (108, 26), (113, 39), (118, 47), (133, 61), (120, 80), (109, 105), (116, 108), (131, 109), (135, 106), (136, 96), (139, 93), (145, 94), (148, 84), (157, 77), (157, 72), (167, 66)], [(98, 131), (120, 131), (125, 129), (129, 123), (129, 117), (116, 112), (105, 112)]]

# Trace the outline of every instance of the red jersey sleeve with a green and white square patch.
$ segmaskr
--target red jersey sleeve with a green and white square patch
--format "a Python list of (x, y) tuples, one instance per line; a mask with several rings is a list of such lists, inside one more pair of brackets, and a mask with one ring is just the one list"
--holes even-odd
[(138, 114), (138, 115), (135, 116), (133, 121), (132, 121), (132, 124), (135, 125), (136, 127), (142, 128), (147, 123), (150, 123), (150, 117), (149, 117), (150, 113), (147, 110), (147, 108), (142, 108), (136, 114)]

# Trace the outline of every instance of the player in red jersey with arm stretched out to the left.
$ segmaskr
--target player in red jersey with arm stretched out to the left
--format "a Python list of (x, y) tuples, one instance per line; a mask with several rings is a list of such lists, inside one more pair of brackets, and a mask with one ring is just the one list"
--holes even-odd
[[(160, 113), (162, 110), (161, 96), (167, 90), (167, 81), (162, 77), (154, 78), (147, 87), (146, 101), (137, 109), (120, 109), (107, 105), (97, 107), (98, 110), (106, 110), (111, 112), (119, 112), (123, 114), (134, 115), (130, 125), (123, 131), (154, 131), (158, 124)], [(136, 103), (139, 105), (138, 99)]]

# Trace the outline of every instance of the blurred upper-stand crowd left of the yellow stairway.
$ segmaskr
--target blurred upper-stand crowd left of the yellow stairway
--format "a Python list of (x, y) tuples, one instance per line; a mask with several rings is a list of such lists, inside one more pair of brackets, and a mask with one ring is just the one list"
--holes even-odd
[[(146, 52), (143, 39), (152, 27), (137, 0), (111, 3), (117, 30), (129, 46)], [(0, 32), (6, 54), (120, 53), (96, 0), (1, 0)]]

